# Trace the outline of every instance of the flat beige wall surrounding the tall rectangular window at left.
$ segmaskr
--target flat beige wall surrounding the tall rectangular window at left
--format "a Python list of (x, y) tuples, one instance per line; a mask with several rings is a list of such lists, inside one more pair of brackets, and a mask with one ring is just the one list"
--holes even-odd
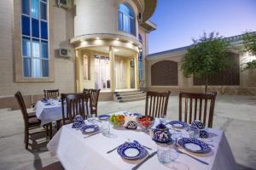
[[(15, 82), (15, 50), (14, 44), (20, 44), (20, 37), (15, 37), (15, 30), (20, 26), (14, 24), (14, 7), (20, 1), (0, 1), (0, 96), (14, 95), (16, 91), (26, 95), (43, 94), (44, 89), (60, 88), (61, 92), (74, 92), (74, 59), (62, 59), (58, 57), (56, 49), (72, 48), (69, 38), (73, 37), (73, 14), (63, 8), (55, 7), (54, 1), (49, 1), (49, 58), (55, 67), (54, 81), (51, 82)], [(18, 4), (19, 5), (19, 4)], [(20, 15), (18, 16), (20, 20)], [(15, 20), (17, 20), (15, 18)], [(17, 29), (18, 28), (18, 29)], [(17, 39), (18, 42), (14, 42)], [(20, 54), (20, 53), (16, 53)], [(21, 54), (20, 54), (21, 59)]]

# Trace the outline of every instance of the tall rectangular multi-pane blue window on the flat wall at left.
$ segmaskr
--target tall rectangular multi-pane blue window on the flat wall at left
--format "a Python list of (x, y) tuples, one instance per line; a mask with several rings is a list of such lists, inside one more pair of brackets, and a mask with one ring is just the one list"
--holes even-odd
[(23, 77), (49, 77), (47, 0), (21, 0)]

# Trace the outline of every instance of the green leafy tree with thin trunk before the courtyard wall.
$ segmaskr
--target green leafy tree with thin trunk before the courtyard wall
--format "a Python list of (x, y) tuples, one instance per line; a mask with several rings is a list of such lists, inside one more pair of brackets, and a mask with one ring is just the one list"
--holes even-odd
[(199, 39), (193, 39), (193, 45), (188, 49), (181, 61), (184, 77), (204, 78), (207, 93), (208, 78), (230, 68), (226, 58), (229, 43), (218, 33), (206, 32)]

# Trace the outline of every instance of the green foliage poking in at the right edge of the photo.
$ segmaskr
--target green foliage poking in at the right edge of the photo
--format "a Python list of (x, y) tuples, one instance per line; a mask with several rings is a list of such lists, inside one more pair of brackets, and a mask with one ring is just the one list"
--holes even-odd
[[(256, 32), (246, 32), (246, 34), (242, 37), (242, 40), (245, 50), (248, 53), (256, 56)], [(253, 69), (256, 69), (256, 59), (247, 62), (243, 71)]]

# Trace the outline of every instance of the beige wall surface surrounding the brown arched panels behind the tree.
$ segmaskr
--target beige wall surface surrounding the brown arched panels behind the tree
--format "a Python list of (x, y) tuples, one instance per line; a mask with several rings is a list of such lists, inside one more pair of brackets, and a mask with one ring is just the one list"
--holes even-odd
[[(204, 86), (194, 86), (193, 77), (183, 77), (183, 73), (180, 70), (178, 64), (178, 85), (177, 86), (152, 86), (151, 85), (151, 66), (160, 60), (172, 60), (177, 63), (183, 58), (185, 52), (160, 54), (155, 55), (153, 58), (147, 59), (148, 69), (148, 89), (154, 91), (166, 91), (171, 90), (172, 94), (177, 94), (180, 91), (190, 92), (204, 92)], [(248, 54), (240, 54), (241, 70), (244, 67), (244, 63), (248, 59), (256, 59), (255, 56), (248, 56)], [(240, 85), (239, 86), (209, 86), (210, 90), (218, 91), (219, 94), (241, 94), (241, 95), (256, 95), (256, 71), (241, 71), (240, 72)]]

